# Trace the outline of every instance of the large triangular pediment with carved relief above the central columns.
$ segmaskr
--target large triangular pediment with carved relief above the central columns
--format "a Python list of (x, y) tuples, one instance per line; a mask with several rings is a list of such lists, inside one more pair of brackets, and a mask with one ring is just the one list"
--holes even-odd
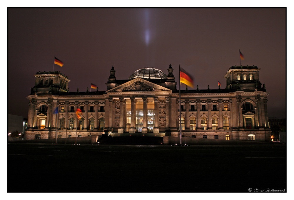
[(162, 87), (155, 83), (151, 83), (142, 78), (135, 78), (122, 85), (118, 85), (115, 88), (107, 90), (106, 93), (110, 92), (151, 92), (151, 91), (171, 91), (168, 88)]

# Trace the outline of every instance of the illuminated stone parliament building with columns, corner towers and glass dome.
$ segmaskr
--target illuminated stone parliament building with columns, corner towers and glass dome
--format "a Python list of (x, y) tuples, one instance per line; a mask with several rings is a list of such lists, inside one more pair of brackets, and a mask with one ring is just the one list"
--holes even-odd
[[(168, 74), (146, 67), (116, 80), (112, 67), (106, 91), (69, 92), (60, 72), (38, 72), (29, 99), (26, 139), (101, 135), (104, 133), (179, 136), (217, 140), (269, 141), (265, 84), (257, 66), (233, 66), (225, 89), (179, 90), (173, 68)], [(179, 106), (181, 105), (181, 114)], [(54, 114), (55, 108), (58, 114)], [(76, 116), (81, 109), (81, 120)], [(78, 122), (78, 123), (77, 123)], [(77, 130), (78, 129), (78, 130)]]

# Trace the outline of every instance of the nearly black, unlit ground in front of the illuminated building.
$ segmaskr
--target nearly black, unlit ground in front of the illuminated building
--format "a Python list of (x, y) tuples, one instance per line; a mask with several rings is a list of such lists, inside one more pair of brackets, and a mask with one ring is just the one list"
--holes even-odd
[(8, 192), (265, 192), (287, 189), (286, 145), (9, 143), (7, 176)]

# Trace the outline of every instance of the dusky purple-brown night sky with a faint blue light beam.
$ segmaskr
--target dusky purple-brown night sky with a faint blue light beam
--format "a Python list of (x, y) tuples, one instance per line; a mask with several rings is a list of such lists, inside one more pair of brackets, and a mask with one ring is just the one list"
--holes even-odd
[(128, 79), (147, 66), (168, 74), (171, 64), (179, 89), (180, 64), (195, 87), (224, 89), (239, 49), (243, 66), (261, 69), (268, 116), (286, 117), (286, 9), (8, 9), (8, 114), (27, 118), (39, 71), (64, 73), (70, 92), (91, 83), (106, 91), (112, 66)]

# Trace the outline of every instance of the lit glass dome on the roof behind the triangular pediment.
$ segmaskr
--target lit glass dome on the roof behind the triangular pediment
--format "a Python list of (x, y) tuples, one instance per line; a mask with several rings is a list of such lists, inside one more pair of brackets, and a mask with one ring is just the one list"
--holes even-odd
[(167, 76), (159, 69), (153, 67), (144, 67), (135, 71), (128, 79), (134, 78), (151, 78), (151, 79), (166, 79)]

